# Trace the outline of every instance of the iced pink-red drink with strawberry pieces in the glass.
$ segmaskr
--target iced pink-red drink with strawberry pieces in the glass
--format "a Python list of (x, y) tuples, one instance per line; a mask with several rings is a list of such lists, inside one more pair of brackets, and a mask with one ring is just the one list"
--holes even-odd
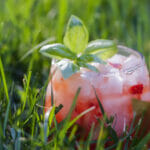
[[(99, 73), (81, 68), (80, 72), (68, 79), (63, 79), (60, 70), (54, 64), (52, 81), (46, 95), (46, 107), (51, 106), (51, 83), (53, 85), (54, 103), (64, 107), (56, 115), (62, 121), (72, 105), (76, 91), (81, 87), (76, 108), (72, 118), (94, 106), (94, 110), (77, 121), (80, 127), (89, 131), (92, 123), (97, 126), (97, 118), (102, 117), (94, 89), (104, 107), (107, 116), (114, 116), (113, 128), (120, 136), (133, 119), (131, 100), (133, 98), (150, 101), (150, 80), (144, 57), (129, 48), (118, 46), (118, 53), (107, 60), (107, 64), (93, 63)], [(46, 109), (47, 111), (47, 109)]]

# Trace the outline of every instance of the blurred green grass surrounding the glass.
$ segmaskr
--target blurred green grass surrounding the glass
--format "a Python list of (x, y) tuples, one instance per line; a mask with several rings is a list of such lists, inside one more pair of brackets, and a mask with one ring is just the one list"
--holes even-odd
[[(41, 107), (51, 62), (38, 50), (45, 43), (62, 41), (71, 14), (83, 19), (90, 40), (114, 39), (137, 49), (150, 69), (149, 0), (0, 0), (0, 150), (88, 150), (90, 143), (96, 142), (91, 141), (94, 125), (87, 141), (77, 141), (76, 126), (67, 136), (68, 124), (57, 124), (56, 108), (46, 120)], [(104, 128), (103, 122), (100, 124)], [(99, 134), (96, 149), (104, 149), (108, 138), (105, 130), (108, 129)], [(65, 134), (59, 136), (60, 133)], [(123, 144), (129, 137), (127, 134), (119, 138), (107, 149), (147, 149), (149, 134), (135, 139), (132, 147)]]

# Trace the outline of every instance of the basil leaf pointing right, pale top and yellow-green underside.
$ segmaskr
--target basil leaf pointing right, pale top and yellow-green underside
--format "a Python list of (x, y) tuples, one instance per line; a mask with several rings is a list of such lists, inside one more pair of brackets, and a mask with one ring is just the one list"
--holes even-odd
[(95, 54), (103, 60), (112, 57), (117, 51), (117, 45), (114, 41), (104, 39), (90, 42), (85, 49), (85, 53)]

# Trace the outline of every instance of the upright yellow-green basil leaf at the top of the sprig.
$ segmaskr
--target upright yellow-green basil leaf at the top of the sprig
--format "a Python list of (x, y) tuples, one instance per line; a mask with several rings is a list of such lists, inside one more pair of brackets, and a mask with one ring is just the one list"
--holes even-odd
[(64, 36), (64, 44), (70, 48), (71, 51), (79, 54), (86, 48), (88, 38), (88, 31), (83, 22), (78, 17), (71, 16)]

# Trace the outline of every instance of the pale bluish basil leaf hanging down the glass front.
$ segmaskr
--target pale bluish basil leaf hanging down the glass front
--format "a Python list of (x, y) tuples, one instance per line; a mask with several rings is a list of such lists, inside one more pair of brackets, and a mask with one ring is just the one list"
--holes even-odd
[(71, 75), (76, 73), (80, 68), (76, 64), (68, 61), (68, 60), (61, 60), (57, 63), (57, 66), (60, 68), (61, 73), (64, 79), (69, 78)]

